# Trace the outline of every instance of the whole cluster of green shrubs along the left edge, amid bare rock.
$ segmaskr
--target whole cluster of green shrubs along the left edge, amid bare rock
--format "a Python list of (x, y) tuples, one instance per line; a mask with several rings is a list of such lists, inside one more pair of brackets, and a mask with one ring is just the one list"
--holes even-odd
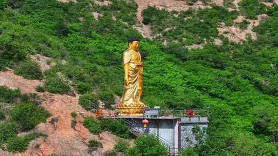
[(19, 90), (5, 86), (0, 86), (0, 92), (0, 146), (10, 152), (23, 152), (31, 140), (46, 135), (36, 131), (24, 136), (17, 134), (32, 130), (39, 123), (45, 122), (50, 114), (37, 106), (37, 94), (21, 94)]

